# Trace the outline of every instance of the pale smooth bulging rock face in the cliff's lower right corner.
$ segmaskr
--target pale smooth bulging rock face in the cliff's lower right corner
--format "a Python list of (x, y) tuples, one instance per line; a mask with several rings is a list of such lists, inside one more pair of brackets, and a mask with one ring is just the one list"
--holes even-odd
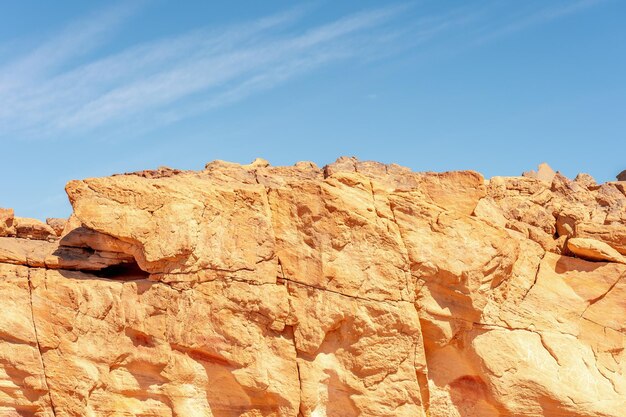
[(546, 253), (534, 281), (487, 307), (470, 360), (503, 394), (501, 415), (620, 415), (625, 338), (615, 297), (625, 273), (624, 265)]

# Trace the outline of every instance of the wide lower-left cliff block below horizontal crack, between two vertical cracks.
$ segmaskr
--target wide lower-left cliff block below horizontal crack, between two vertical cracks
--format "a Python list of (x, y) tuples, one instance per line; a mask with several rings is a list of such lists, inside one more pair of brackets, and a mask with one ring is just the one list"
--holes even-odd
[(30, 279), (57, 415), (297, 414), (285, 287), (176, 291), (41, 269)]

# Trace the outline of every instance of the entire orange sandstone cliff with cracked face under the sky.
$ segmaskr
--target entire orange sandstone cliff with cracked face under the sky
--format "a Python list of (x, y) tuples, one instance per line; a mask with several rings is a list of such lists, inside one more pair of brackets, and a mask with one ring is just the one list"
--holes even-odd
[(626, 183), (340, 158), (0, 209), (0, 416), (626, 410)]

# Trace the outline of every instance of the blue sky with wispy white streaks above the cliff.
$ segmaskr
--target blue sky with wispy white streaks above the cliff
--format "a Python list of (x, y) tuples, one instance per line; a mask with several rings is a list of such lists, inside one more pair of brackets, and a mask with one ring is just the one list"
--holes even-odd
[(3, 4), (0, 207), (215, 159), (626, 169), (626, 2), (216, 3)]

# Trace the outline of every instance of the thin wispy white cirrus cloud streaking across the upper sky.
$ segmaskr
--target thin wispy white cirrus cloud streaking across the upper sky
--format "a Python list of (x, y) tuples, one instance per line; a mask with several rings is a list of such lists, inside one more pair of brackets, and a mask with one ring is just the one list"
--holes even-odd
[(495, 16), (497, 6), (420, 16), (416, 6), (400, 5), (306, 29), (296, 24), (306, 9), (294, 9), (98, 55), (139, 8), (124, 3), (86, 23), (70, 23), (0, 65), (0, 138), (72, 137), (95, 129), (132, 135), (233, 104), (324, 65), (413, 51), (455, 34), (468, 45), (484, 43), (600, 1), (539, 3), (508, 17)]

